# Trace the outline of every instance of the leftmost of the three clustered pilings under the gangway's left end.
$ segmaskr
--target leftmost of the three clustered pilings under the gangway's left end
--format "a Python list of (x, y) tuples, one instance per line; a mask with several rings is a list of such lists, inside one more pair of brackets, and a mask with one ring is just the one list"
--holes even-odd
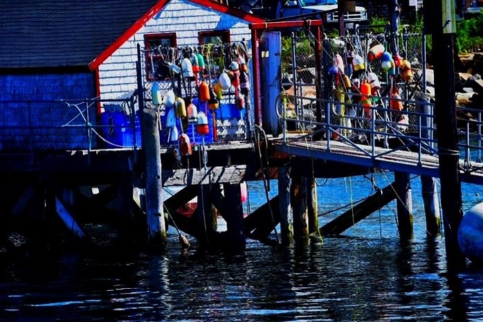
[(293, 242), (290, 228), (291, 204), (290, 204), (290, 168), (278, 168), (278, 196), (280, 204), (280, 235), (282, 244), (287, 245)]

